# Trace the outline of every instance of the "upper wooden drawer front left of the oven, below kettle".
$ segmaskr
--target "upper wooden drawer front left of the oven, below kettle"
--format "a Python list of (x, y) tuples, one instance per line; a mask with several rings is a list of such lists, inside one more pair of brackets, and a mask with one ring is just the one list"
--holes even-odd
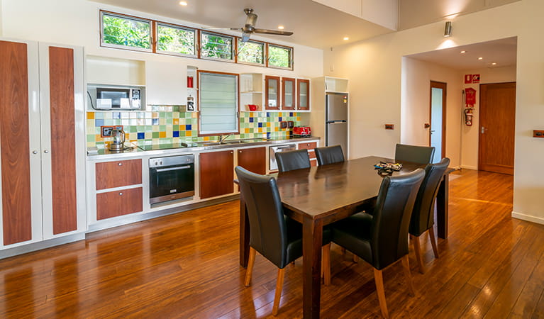
[(142, 160), (96, 163), (96, 189), (142, 184)]

